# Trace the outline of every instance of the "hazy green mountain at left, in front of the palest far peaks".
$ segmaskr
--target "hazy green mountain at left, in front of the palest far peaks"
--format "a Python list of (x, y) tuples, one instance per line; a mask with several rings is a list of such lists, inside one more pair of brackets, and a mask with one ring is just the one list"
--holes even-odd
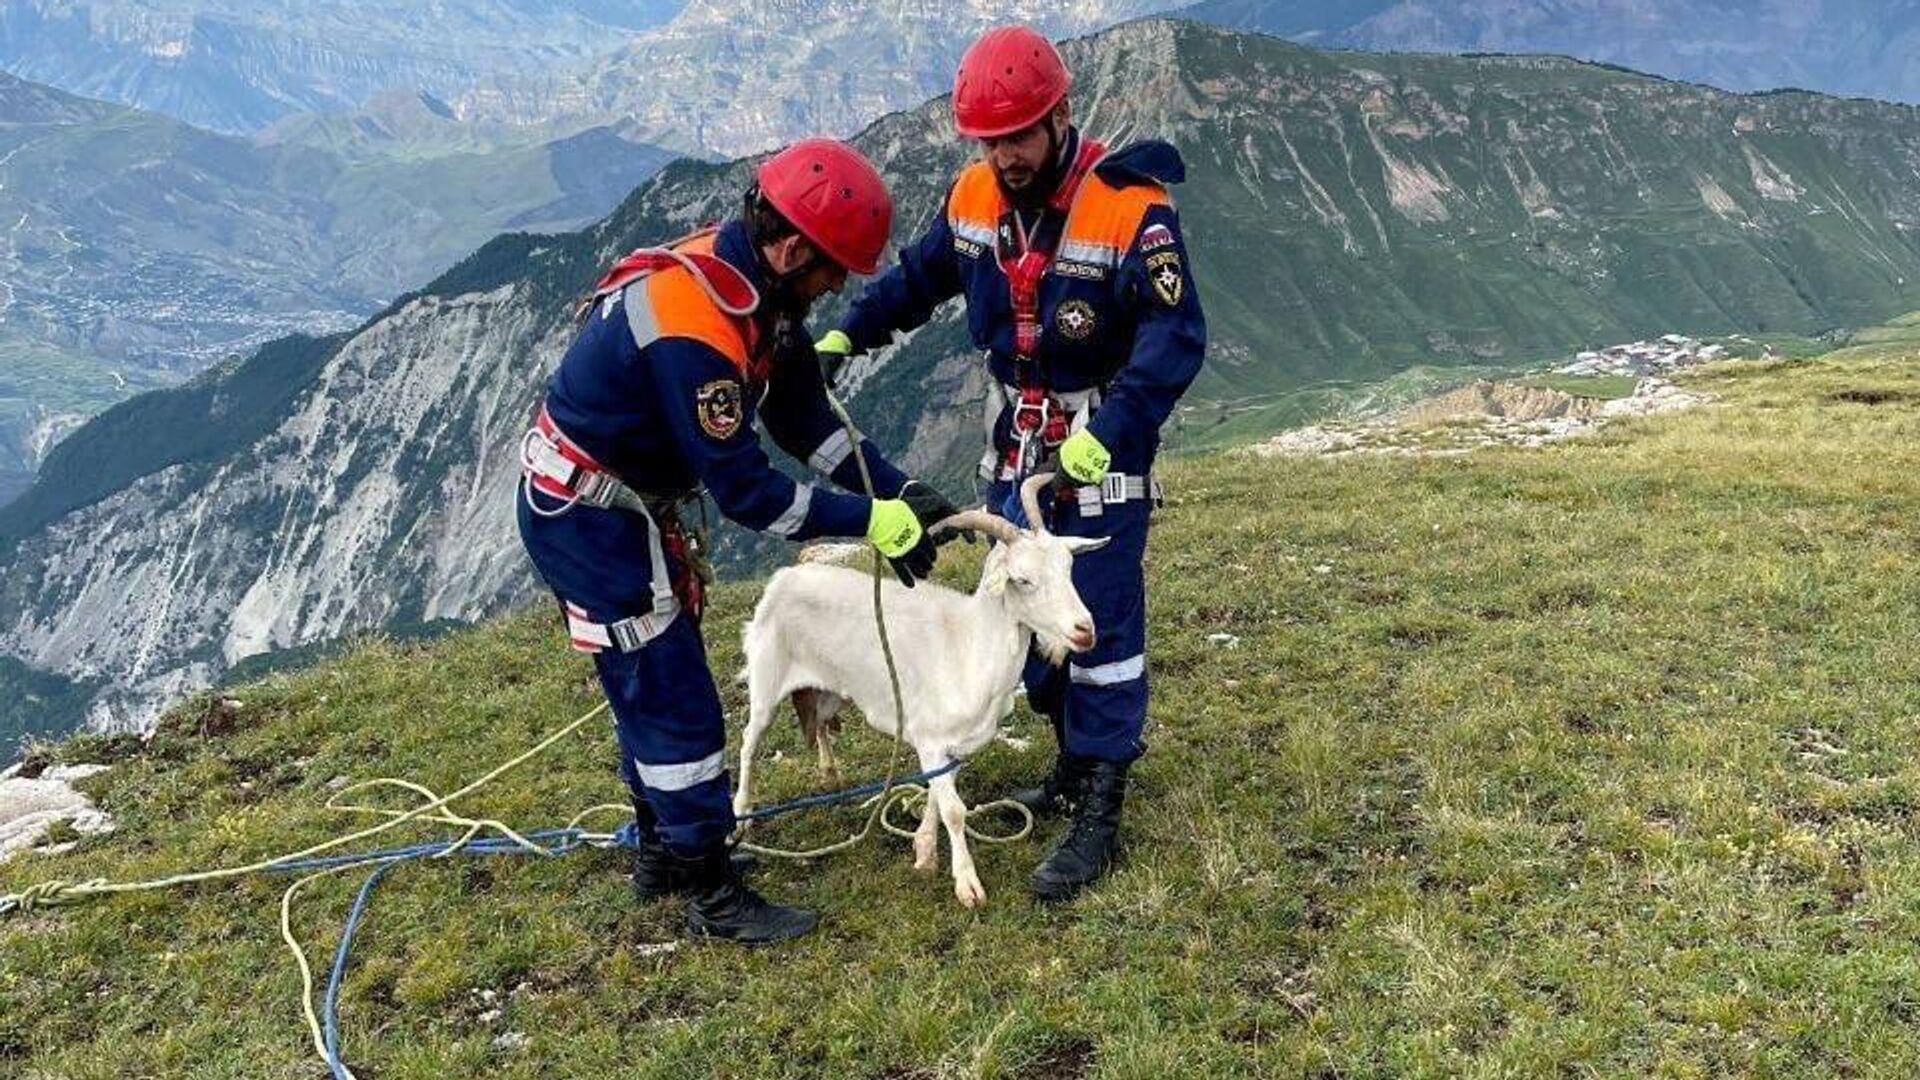
[(359, 325), (505, 229), (605, 215), (666, 158), (607, 129), (261, 144), (0, 73), (0, 502), (102, 407)]

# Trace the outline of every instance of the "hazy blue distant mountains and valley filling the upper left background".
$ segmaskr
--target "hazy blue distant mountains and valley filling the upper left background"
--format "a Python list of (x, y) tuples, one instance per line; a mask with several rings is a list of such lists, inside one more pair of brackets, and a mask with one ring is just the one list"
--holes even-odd
[(0, 69), (252, 133), (0, 75), (0, 505), (108, 404), (348, 329), (499, 231), (605, 215), (657, 142), (852, 133), (991, 23), (1165, 6), (0, 0)]

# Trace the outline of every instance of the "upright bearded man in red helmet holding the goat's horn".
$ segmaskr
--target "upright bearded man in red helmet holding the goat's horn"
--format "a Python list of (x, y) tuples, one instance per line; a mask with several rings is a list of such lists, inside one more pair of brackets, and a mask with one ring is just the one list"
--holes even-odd
[(1033, 892), (1066, 899), (1112, 865), (1131, 763), (1146, 724), (1146, 525), (1160, 425), (1200, 371), (1206, 321), (1167, 184), (1185, 179), (1173, 146), (1108, 152), (1073, 127), (1073, 79), (1027, 27), (987, 31), (954, 77), (954, 127), (981, 160), (945, 211), (874, 279), (818, 342), (831, 359), (881, 348), (966, 296), (968, 331), (998, 396), (981, 459), (989, 505), (1021, 519), (1029, 473), (1062, 479), (1046, 523), (1104, 536), (1073, 559), (1073, 584), (1098, 644), (1066, 671), (1027, 667), (1027, 700), (1054, 723), (1060, 755), (1037, 811), (1071, 809), (1066, 836), (1033, 872)]

